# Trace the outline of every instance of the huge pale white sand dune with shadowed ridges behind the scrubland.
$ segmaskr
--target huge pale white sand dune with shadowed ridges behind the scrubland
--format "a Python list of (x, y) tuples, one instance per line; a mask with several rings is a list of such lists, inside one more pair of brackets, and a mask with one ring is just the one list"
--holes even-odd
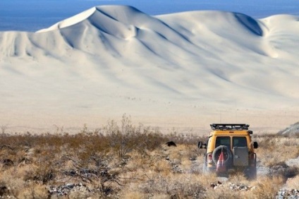
[(166, 131), (278, 131), (298, 121), (298, 55), (298, 16), (97, 6), (38, 32), (0, 32), (0, 125), (97, 128), (126, 113)]

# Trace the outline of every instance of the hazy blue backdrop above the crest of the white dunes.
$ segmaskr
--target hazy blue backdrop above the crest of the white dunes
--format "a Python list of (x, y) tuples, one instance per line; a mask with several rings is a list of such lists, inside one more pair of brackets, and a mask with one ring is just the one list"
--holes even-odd
[(35, 32), (93, 6), (130, 5), (149, 15), (197, 10), (219, 10), (264, 18), (280, 13), (299, 16), (298, 0), (0, 0), (0, 31)]

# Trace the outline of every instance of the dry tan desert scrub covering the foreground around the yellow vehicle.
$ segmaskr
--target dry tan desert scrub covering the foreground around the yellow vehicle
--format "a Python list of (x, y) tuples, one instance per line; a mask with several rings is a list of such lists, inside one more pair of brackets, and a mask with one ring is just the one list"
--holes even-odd
[[(0, 135), (1, 198), (275, 198), (286, 182), (285, 173), (258, 176), (248, 181), (233, 172), (227, 181), (202, 174), (205, 140), (177, 133), (133, 126), (123, 118), (121, 126), (110, 121), (95, 132), (87, 126), (75, 135), (67, 133)], [(177, 147), (168, 147), (169, 140)], [(280, 167), (298, 157), (298, 138), (264, 135), (255, 138), (259, 164)], [(281, 166), (282, 167), (282, 166)], [(298, 188), (298, 168), (288, 168)], [(293, 170), (292, 170), (293, 169)], [(212, 183), (221, 182), (213, 188)], [(248, 186), (248, 191), (232, 186)]]

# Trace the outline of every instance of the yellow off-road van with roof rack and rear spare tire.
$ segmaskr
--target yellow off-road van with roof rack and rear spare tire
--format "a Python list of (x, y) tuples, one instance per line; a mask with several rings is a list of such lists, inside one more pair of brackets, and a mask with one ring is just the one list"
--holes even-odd
[[(204, 172), (228, 174), (230, 169), (244, 171), (248, 179), (257, 177), (257, 155), (254, 149), (257, 142), (252, 142), (252, 131), (245, 123), (212, 123), (207, 143), (198, 143), (200, 149), (205, 148)], [(219, 156), (222, 152), (224, 170), (218, 171)]]

